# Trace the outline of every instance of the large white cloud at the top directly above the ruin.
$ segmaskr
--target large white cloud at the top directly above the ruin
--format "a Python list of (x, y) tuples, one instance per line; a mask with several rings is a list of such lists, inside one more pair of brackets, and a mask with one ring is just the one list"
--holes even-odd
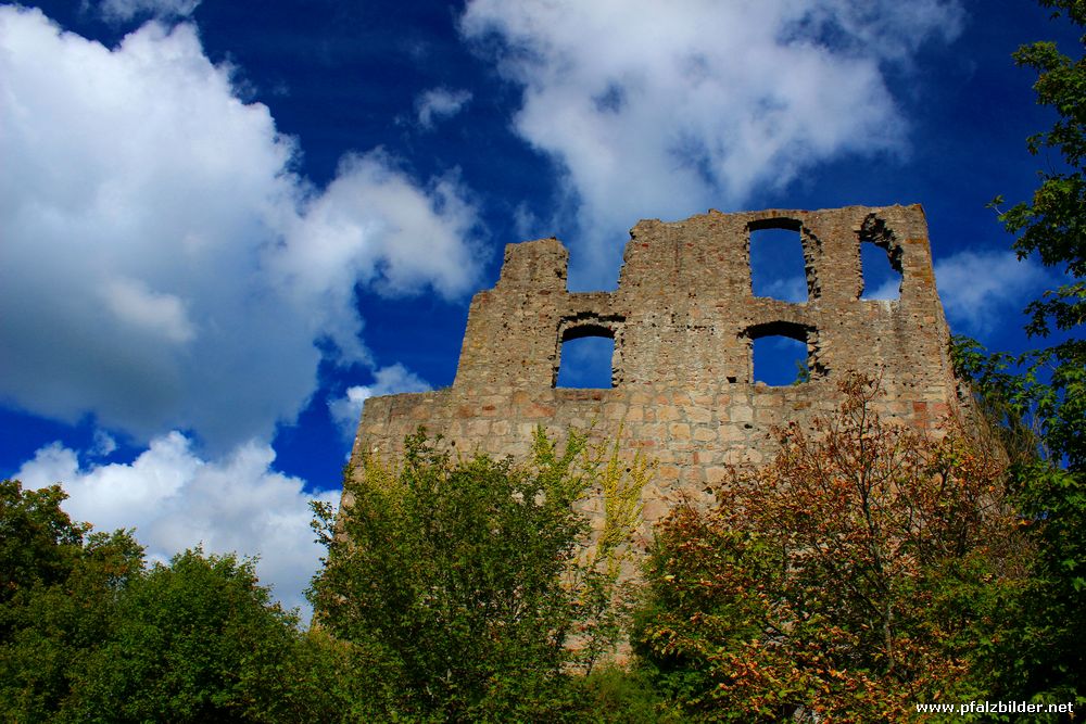
[(617, 268), (637, 218), (742, 204), (844, 153), (896, 153), (887, 87), (954, 0), (471, 0), (462, 31), (523, 87), (514, 125), (567, 175), (571, 279)]

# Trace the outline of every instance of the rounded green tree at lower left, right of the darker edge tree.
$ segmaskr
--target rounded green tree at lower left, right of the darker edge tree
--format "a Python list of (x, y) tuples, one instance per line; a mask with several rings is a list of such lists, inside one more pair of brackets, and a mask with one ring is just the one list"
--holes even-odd
[(125, 588), (79, 675), (87, 722), (275, 721), (291, 683), (296, 620), (272, 605), (252, 561), (199, 549)]

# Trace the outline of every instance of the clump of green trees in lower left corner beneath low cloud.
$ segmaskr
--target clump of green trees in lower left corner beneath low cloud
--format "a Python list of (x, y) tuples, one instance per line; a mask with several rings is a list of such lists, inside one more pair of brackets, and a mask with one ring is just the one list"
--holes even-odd
[(189, 550), (143, 566), (59, 486), (0, 487), (0, 721), (328, 722), (342, 657), (273, 605), (252, 561)]

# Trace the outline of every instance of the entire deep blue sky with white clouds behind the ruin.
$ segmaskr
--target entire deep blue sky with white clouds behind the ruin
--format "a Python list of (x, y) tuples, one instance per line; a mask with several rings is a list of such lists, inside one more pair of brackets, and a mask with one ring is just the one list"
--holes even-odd
[(1025, 1), (0, 4), (0, 474), (298, 605), (362, 403), (452, 382), (504, 244), (609, 289), (710, 207), (921, 203), (954, 330), (1021, 350), (1056, 272), (985, 204), (1055, 163), (1037, 39), (1075, 52)]

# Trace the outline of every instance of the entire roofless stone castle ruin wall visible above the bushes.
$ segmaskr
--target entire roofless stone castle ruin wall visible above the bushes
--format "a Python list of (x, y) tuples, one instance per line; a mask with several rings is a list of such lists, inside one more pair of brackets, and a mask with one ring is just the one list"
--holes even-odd
[[(753, 294), (750, 237), (760, 229), (798, 234), (805, 303)], [(863, 243), (901, 274), (898, 300), (860, 299)], [(453, 385), (367, 399), (355, 469), (364, 452), (395, 455), (419, 425), (497, 456), (525, 455), (539, 424), (559, 437), (591, 428), (658, 460), (642, 491), (646, 532), (679, 496), (706, 499), (729, 465), (771, 455), (771, 425), (832, 410), (847, 370), (880, 377), (881, 411), (906, 423), (924, 428), (956, 409), (919, 205), (641, 221), (614, 292), (569, 292), (568, 256), (556, 239), (507, 245), (497, 285), (471, 302)], [(754, 382), (753, 342), (771, 335), (806, 343), (809, 381)], [(563, 342), (581, 336), (614, 339), (610, 389), (556, 389)]]

